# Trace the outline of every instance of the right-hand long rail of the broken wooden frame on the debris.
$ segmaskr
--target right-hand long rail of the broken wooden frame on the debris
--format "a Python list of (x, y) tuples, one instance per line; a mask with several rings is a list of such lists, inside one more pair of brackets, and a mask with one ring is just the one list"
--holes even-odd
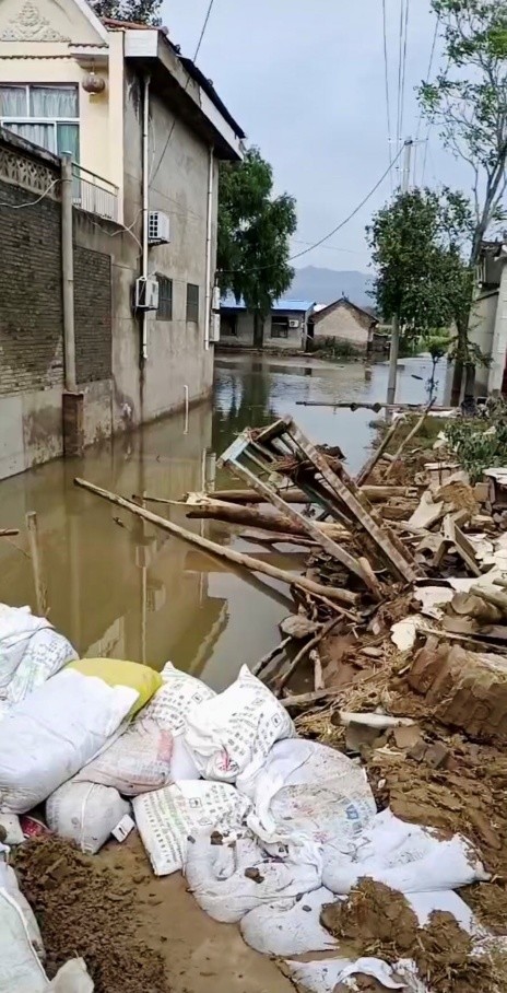
[[(393, 542), (386, 535), (386, 531), (374, 521), (370, 513), (363, 505), (361, 500), (352, 491), (350, 486), (350, 478), (347, 474), (344, 474), (349, 479), (349, 486), (342, 479), (340, 479), (335, 472), (330, 469), (327, 459), (322, 456), (320, 452), (317, 451), (315, 445), (308, 441), (303, 432), (296, 427), (292, 421), (290, 425), (290, 434), (294, 441), (299, 445), (305, 455), (310, 459), (316, 469), (323, 477), (328, 486), (333, 490), (337, 496), (345, 504), (350, 513), (355, 517), (355, 519), (361, 524), (361, 526), (368, 533), (370, 538), (375, 541), (375, 545), (380, 550), (382, 558), (391, 566), (391, 571), (394, 572), (398, 579), (401, 579), (403, 582), (413, 582), (417, 579), (415, 569), (412, 566), (411, 562), (405, 554), (401, 554), (398, 548), (394, 547)], [(356, 484), (353, 483), (356, 488)]]

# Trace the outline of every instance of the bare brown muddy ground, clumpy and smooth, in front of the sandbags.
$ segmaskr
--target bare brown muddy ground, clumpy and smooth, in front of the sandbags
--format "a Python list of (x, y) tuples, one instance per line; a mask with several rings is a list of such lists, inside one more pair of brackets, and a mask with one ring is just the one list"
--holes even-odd
[(22, 889), (40, 924), (50, 977), (85, 959), (95, 993), (291, 993), (274, 962), (217, 924), (177, 873), (157, 879), (138, 834), (82, 855), (57, 838), (17, 850)]

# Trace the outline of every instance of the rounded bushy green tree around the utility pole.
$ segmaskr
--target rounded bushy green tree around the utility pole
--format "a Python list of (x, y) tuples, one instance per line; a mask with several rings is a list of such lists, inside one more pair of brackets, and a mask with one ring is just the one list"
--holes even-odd
[(405, 339), (457, 325), (472, 283), (463, 244), (471, 208), (459, 192), (400, 192), (366, 229), (376, 269), (373, 293), (385, 320)]

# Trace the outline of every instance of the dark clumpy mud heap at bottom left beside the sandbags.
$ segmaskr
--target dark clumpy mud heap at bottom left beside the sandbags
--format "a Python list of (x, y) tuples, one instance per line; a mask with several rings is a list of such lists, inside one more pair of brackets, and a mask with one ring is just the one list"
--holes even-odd
[(78, 955), (95, 993), (172, 993), (162, 955), (138, 937), (132, 879), (55, 837), (22, 845), (13, 865), (40, 926), (50, 979)]

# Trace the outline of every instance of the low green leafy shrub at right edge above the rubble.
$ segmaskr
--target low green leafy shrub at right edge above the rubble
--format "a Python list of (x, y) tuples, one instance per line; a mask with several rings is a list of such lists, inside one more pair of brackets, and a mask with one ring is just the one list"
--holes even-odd
[(472, 482), (482, 479), (485, 469), (507, 464), (507, 404), (502, 398), (487, 401), (484, 420), (459, 418), (445, 431)]

